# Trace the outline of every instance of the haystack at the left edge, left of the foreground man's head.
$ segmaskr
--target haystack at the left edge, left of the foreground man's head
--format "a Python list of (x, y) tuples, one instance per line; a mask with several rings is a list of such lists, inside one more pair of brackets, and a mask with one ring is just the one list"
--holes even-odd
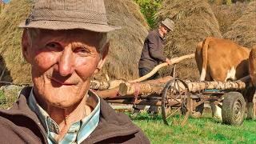
[[(2, 80), (17, 83), (30, 82), (30, 66), (22, 58), (21, 35), (18, 24), (30, 12), (31, 2), (28, 0), (12, 0), (0, 14), (0, 54), (10, 74)], [(1, 71), (3, 67), (1, 67)]]

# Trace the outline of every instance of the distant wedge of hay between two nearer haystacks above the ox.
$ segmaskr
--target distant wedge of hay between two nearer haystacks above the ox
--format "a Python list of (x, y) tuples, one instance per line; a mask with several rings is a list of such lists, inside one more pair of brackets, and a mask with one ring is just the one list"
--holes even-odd
[(228, 27), (230, 27), (233, 22), (242, 17), (242, 13), (246, 9), (246, 6), (246, 2), (237, 2), (231, 5), (211, 6), (215, 17), (218, 20), (222, 34), (227, 32)]

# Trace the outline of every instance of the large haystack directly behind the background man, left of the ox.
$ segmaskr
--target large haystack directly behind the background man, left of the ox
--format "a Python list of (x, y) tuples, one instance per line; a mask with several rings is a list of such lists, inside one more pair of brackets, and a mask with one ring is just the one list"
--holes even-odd
[[(168, 58), (194, 53), (198, 42), (207, 36), (222, 38), (218, 22), (208, 2), (204, 0), (165, 0), (157, 14), (158, 20), (171, 18), (175, 29), (166, 36), (165, 53)], [(170, 74), (172, 70), (162, 70)], [(177, 66), (178, 78), (198, 80), (199, 73), (194, 59)]]

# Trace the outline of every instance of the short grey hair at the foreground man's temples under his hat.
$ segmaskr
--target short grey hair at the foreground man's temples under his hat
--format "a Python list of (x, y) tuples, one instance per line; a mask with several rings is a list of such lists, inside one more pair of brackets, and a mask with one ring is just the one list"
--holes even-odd
[[(41, 33), (41, 30), (40, 29), (26, 29), (26, 32), (27, 32), (27, 35), (29, 38), (29, 42), (32, 45), (34, 38), (36, 38)], [(109, 39), (108, 39), (106, 33), (98, 33), (98, 36), (101, 39), (101, 41), (99, 42), (99, 45), (98, 45), (98, 51), (102, 55), (107, 42), (109, 42)]]

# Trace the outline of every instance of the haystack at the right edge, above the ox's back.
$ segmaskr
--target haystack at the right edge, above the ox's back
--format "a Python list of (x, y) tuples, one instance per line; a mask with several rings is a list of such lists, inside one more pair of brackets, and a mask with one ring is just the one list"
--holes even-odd
[(230, 26), (223, 37), (248, 48), (256, 45), (256, 1), (250, 2), (242, 17)]

